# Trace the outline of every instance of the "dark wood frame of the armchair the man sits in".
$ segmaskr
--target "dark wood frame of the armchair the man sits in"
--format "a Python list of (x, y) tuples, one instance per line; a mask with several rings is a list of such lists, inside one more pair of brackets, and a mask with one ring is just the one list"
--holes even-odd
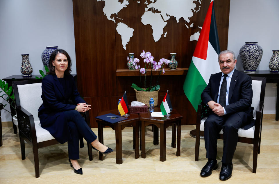
[[(256, 109), (256, 120), (255, 120), (255, 132), (254, 138), (238, 137), (238, 142), (253, 144), (253, 173), (257, 170), (257, 158), (260, 154), (261, 146), (261, 135), (262, 135), (262, 114), (264, 109), (264, 93), (266, 77), (251, 77), (252, 80), (262, 81), (260, 104)], [(208, 116), (210, 109), (206, 105), (198, 105), (197, 121), (196, 121), (196, 150), (195, 150), (195, 161), (198, 161), (199, 147), (200, 147), (200, 136), (204, 136), (204, 131), (200, 131), (201, 120)], [(219, 134), (218, 139), (223, 139), (223, 134)]]

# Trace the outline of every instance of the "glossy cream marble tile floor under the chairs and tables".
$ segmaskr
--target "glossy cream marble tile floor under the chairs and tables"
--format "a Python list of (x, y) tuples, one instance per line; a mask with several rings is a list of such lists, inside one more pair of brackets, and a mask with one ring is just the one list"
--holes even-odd
[[(146, 159), (135, 159), (133, 129), (122, 130), (123, 164), (115, 163), (115, 151), (99, 160), (93, 150), (88, 160), (87, 147), (80, 149), (79, 163), (83, 175), (74, 173), (68, 163), (67, 143), (39, 149), (40, 177), (35, 178), (33, 153), (26, 144), (26, 159), (21, 159), (18, 134), (12, 127), (3, 127), (3, 146), (0, 147), (0, 183), (279, 183), (279, 122), (264, 120), (261, 153), (258, 155), (257, 173), (252, 173), (253, 145), (238, 143), (233, 159), (232, 178), (219, 180), (223, 140), (218, 141), (219, 167), (206, 178), (200, 176), (205, 158), (204, 141), (200, 143), (199, 161), (194, 160), (195, 139), (189, 132), (195, 125), (184, 125), (181, 130), (181, 155), (171, 147), (171, 127), (167, 129), (165, 162), (159, 161), (160, 145), (153, 145), (153, 132), (147, 127)], [(92, 129), (96, 134), (96, 128)], [(159, 129), (160, 131), (160, 129)], [(160, 135), (160, 134), (159, 134)], [(160, 139), (159, 139), (160, 140)], [(84, 141), (85, 142), (85, 141)], [(115, 131), (104, 128), (105, 145), (115, 149)], [(140, 153), (141, 154), (141, 153)]]

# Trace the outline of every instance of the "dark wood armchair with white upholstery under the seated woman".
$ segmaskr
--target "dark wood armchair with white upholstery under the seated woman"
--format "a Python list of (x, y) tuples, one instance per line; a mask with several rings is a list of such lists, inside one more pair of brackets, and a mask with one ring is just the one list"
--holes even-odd
[[(59, 142), (44, 128), (38, 118), (38, 109), (42, 104), (42, 80), (26, 80), (12, 82), (15, 94), (16, 111), (18, 119), (19, 140), (22, 160), (25, 159), (24, 140), (32, 146), (34, 155), (35, 176), (40, 177), (38, 149)], [(83, 114), (90, 126), (89, 113)], [(83, 147), (83, 139), (80, 141)], [(91, 144), (87, 144), (89, 160), (92, 160)]]

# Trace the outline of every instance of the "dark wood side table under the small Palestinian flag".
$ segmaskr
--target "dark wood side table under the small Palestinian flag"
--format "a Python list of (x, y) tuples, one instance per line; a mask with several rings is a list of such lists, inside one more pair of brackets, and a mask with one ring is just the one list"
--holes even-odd
[[(155, 108), (155, 112), (161, 111), (160, 108)], [(177, 150), (176, 156), (180, 156), (180, 137), (181, 137), (181, 119), (183, 118), (175, 109), (172, 110), (171, 116), (167, 117), (151, 117), (150, 113), (139, 114), (141, 121), (141, 137), (142, 137), (142, 158), (145, 158), (145, 127), (148, 125), (155, 125), (160, 128), (160, 161), (166, 161), (166, 131), (167, 127), (172, 125), (172, 131), (176, 131), (175, 125), (177, 125)], [(154, 132), (157, 130), (154, 130)], [(172, 132), (172, 139), (174, 132)], [(154, 133), (155, 137), (155, 133)], [(155, 143), (155, 140), (153, 142)], [(172, 143), (172, 147), (175, 144)]]

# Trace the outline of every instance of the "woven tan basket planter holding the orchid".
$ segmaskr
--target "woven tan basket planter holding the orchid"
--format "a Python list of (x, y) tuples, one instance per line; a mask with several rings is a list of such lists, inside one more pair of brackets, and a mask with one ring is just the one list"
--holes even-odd
[(136, 92), (136, 97), (138, 102), (145, 103), (149, 108), (149, 100), (152, 97), (154, 99), (154, 107), (158, 105), (158, 92), (157, 91), (138, 91), (134, 89)]

